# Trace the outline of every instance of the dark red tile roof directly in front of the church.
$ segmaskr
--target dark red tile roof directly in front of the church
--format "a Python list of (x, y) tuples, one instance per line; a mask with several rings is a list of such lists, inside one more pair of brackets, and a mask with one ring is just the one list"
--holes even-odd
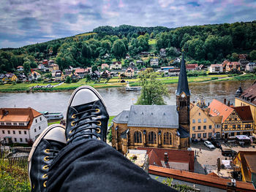
[(194, 151), (171, 150), (154, 147), (138, 147), (138, 150), (147, 150), (149, 164), (162, 166), (165, 161), (165, 153), (168, 154), (168, 161), (189, 164), (189, 172), (194, 172)]

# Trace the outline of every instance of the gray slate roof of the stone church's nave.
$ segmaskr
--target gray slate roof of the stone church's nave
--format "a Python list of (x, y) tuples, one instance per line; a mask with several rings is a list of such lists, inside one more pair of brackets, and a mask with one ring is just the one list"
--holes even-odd
[(176, 106), (132, 105), (127, 126), (178, 128)]

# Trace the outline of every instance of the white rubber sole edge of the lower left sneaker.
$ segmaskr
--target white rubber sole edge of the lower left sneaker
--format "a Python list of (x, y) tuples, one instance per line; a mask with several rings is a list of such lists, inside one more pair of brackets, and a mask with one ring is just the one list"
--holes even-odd
[[(42, 131), (42, 133), (39, 135), (39, 137), (37, 137), (37, 139), (34, 141), (34, 144), (32, 145), (31, 151), (29, 153), (29, 158), (28, 158), (28, 162), (29, 162), (28, 172), (29, 173), (30, 173), (30, 169), (31, 169), (31, 158), (32, 158), (32, 155), (34, 154), (34, 151), (37, 149), (37, 145), (45, 137), (45, 135), (48, 134), (48, 132), (50, 130), (52, 130), (53, 128), (56, 128), (56, 127), (61, 127), (63, 129), (65, 129), (65, 127), (62, 126), (61, 124), (54, 124), (54, 125), (48, 126), (47, 128), (45, 128), (44, 131)], [(31, 185), (30, 174), (29, 174), (29, 181), (30, 181), (30, 185)]]

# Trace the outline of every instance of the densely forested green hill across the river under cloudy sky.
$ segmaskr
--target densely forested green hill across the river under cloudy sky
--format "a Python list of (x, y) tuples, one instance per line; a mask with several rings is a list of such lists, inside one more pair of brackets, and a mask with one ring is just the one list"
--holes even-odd
[[(185, 50), (188, 60), (211, 64), (225, 58), (236, 61), (238, 53), (249, 54), (256, 60), (256, 21), (180, 28), (102, 26), (94, 31), (74, 37), (28, 45), (17, 49), (0, 50), (0, 73), (13, 72), (17, 66), (36, 67), (35, 61), (53, 59), (61, 69), (68, 66), (99, 66), (110, 64), (113, 59), (125, 58), (128, 53), (140, 59), (138, 53), (159, 53), (166, 49), (165, 65)], [(104, 58), (108, 53), (110, 58)], [(127, 64), (129, 61), (125, 61)]]

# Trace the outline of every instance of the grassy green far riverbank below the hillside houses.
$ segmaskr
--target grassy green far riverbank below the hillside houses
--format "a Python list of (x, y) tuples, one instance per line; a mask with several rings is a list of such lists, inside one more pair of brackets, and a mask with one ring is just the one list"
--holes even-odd
[[(157, 77), (164, 84), (172, 84), (178, 82), (178, 77)], [(241, 74), (238, 76), (229, 77), (227, 74), (215, 74), (197, 77), (188, 77), (189, 82), (208, 82), (208, 81), (230, 81), (230, 80), (256, 80), (255, 74)], [(126, 79), (129, 81), (130, 86), (140, 85), (139, 79)], [(0, 93), (29, 93), (29, 92), (61, 92), (61, 91), (73, 91), (81, 85), (90, 85), (93, 88), (116, 88), (126, 87), (127, 82), (118, 82), (118, 78), (112, 78), (109, 81), (101, 80), (100, 82), (86, 82), (86, 79), (82, 79), (78, 82), (62, 83), (58, 85), (58, 82), (51, 83), (51, 85), (58, 85), (53, 88), (33, 88), (35, 85), (46, 85), (45, 83), (18, 83), (18, 84), (5, 84), (0, 85)]]

